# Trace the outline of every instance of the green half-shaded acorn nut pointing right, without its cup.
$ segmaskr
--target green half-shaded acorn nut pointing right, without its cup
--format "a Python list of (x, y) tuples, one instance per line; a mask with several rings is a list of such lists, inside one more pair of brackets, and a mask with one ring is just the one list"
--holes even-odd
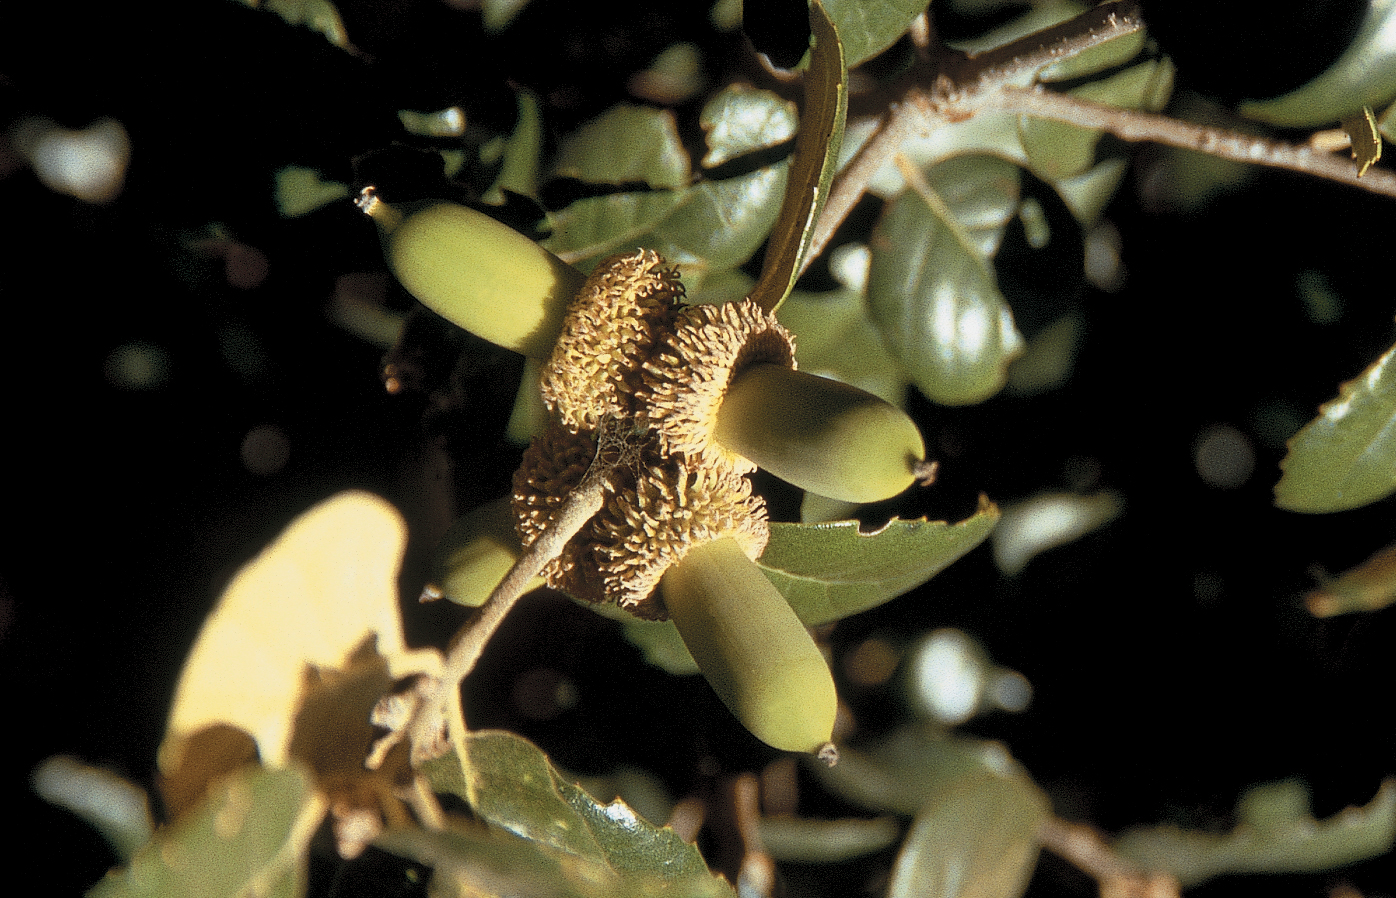
[(782, 480), (856, 503), (896, 496), (926, 459), (921, 434), (902, 409), (780, 365), (733, 377), (713, 437)]

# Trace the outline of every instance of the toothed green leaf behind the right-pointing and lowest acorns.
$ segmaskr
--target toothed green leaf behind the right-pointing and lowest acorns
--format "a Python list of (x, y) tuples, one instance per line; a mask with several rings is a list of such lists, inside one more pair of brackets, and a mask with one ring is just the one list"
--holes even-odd
[(959, 524), (892, 520), (864, 533), (857, 521), (772, 524), (757, 564), (807, 627), (839, 620), (914, 589), (984, 542), (998, 508), (980, 497)]

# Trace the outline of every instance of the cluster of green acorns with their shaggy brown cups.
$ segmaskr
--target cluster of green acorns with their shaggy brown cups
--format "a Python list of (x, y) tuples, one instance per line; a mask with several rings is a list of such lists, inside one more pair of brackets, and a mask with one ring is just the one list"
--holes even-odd
[(797, 370), (790, 334), (750, 300), (684, 304), (677, 271), (656, 253), (613, 256), (584, 279), (456, 204), (398, 211), (369, 189), (360, 208), (413, 296), (547, 359), (540, 385), (553, 422), (514, 479), (522, 545), (604, 465), (602, 510), (544, 568), (549, 585), (673, 620), (747, 729), (832, 763), (833, 680), (755, 564), (769, 528), (747, 475), (759, 466), (822, 496), (888, 499), (924, 459), (914, 423), (868, 392)]

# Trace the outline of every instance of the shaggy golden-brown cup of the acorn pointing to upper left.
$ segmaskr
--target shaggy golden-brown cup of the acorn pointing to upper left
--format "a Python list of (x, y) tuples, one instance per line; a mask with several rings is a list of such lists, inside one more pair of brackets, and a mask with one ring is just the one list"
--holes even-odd
[(684, 285), (659, 253), (637, 250), (602, 261), (567, 310), (543, 367), (543, 402), (568, 430), (597, 430), (628, 418), (639, 369), (678, 314)]

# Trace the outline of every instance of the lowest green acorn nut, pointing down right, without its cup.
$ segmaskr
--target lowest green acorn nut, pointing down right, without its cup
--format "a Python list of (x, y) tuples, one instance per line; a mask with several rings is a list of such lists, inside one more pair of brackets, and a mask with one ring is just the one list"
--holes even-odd
[(736, 540), (691, 547), (659, 591), (698, 669), (743, 726), (772, 747), (838, 760), (829, 666)]

